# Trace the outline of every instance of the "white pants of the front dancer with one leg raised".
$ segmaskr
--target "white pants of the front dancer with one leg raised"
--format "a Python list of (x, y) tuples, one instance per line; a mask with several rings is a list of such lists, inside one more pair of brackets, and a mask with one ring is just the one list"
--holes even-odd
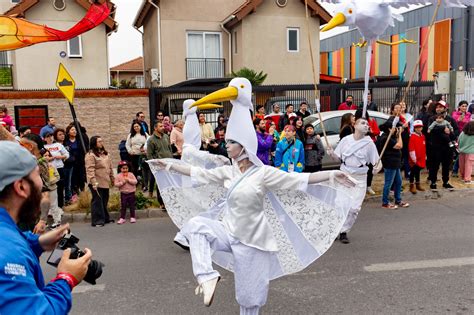
[(181, 229), (188, 239), (193, 272), (199, 284), (219, 277), (212, 267), (212, 253), (232, 253), (235, 295), (240, 314), (258, 314), (267, 301), (271, 253), (240, 243), (217, 220), (197, 216)]

